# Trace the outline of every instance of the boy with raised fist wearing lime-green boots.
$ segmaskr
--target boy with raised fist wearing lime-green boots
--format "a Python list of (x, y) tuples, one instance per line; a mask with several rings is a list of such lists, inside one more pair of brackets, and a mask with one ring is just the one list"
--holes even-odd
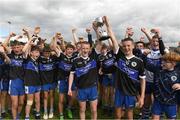
[[(64, 99), (65, 95), (68, 92), (68, 77), (72, 67), (72, 61), (76, 57), (73, 55), (74, 46), (71, 44), (67, 44), (65, 47), (65, 52), (63, 53), (61, 49), (57, 48), (57, 38), (53, 38), (52, 48), (55, 50), (57, 54), (57, 80), (58, 80), (58, 90), (59, 90), (59, 114), (60, 119), (64, 119), (63, 108), (64, 108)], [(68, 118), (72, 119), (72, 111), (71, 107), (73, 104), (73, 100), (75, 98), (75, 86), (72, 86), (73, 96), (68, 99)]]

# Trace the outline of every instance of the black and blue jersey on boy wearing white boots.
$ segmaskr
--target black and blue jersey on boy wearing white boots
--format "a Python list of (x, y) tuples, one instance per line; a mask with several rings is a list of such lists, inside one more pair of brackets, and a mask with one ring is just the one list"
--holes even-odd
[(50, 56), (49, 58), (41, 56), (39, 58), (39, 70), (42, 84), (55, 82), (55, 63), (55, 56)]

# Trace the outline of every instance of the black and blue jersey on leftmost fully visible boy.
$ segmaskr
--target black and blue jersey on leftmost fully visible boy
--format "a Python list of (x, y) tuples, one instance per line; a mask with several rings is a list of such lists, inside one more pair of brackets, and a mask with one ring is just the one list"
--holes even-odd
[(24, 56), (23, 54), (16, 55), (14, 52), (8, 55), (10, 58), (11, 62), (9, 64), (9, 79), (14, 80), (14, 79), (22, 79), (24, 76), (24, 70), (23, 70), (23, 61), (24, 61)]

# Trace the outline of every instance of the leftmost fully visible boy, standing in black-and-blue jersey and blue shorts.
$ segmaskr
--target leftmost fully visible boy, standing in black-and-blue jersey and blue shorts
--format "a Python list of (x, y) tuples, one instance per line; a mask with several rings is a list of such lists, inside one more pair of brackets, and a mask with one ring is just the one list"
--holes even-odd
[(13, 119), (18, 119), (24, 104), (24, 70), (23, 61), (24, 53), (22, 44), (19, 41), (13, 42), (13, 49), (8, 55), (9, 61), (9, 94), (12, 101)]

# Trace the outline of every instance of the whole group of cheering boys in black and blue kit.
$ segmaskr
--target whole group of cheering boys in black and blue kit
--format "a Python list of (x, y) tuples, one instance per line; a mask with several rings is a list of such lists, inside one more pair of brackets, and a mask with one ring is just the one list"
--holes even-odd
[[(141, 28), (149, 43), (143, 38), (134, 42), (132, 28), (127, 28), (125, 38), (118, 42), (109, 19), (102, 19), (110, 36), (106, 41), (100, 40), (94, 22), (95, 42), (91, 29), (86, 29), (88, 40), (78, 38), (76, 29), (72, 29), (72, 42), (56, 33), (50, 44), (39, 36), (40, 27), (32, 35), (23, 29), (26, 43), (18, 40), (22, 36), (10, 42), (17, 36), (11, 33), (0, 46), (0, 116), (8, 101), (12, 119), (22, 118), (23, 107), (24, 119), (30, 119), (33, 107), (35, 119), (41, 119), (41, 106), (43, 119), (51, 119), (58, 90), (61, 120), (66, 118), (65, 100), (69, 119), (73, 118), (74, 101), (79, 103), (80, 119), (86, 118), (87, 101), (92, 119), (98, 119), (97, 105), (115, 110), (112, 115), (116, 119), (133, 119), (135, 107), (140, 109), (141, 119), (160, 119), (164, 113), (164, 118), (176, 119), (180, 104), (179, 53), (165, 47), (158, 29), (152, 29), (151, 36)], [(5, 100), (7, 91), (10, 100)]]

